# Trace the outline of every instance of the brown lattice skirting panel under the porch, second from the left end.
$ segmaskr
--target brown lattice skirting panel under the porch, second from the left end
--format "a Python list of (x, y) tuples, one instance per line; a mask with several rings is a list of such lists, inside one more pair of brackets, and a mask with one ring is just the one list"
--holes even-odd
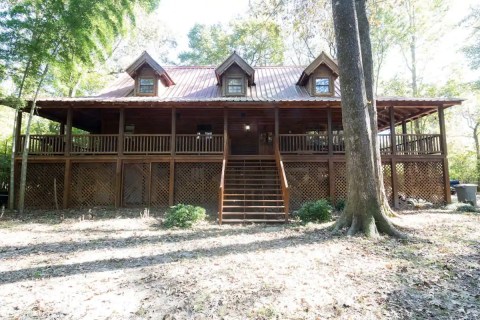
[(72, 163), (70, 206), (115, 205), (115, 163)]

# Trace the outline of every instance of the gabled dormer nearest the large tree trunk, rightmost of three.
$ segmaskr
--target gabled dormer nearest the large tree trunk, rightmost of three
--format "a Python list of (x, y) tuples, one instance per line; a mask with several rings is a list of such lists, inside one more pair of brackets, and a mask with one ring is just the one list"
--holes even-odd
[(304, 86), (311, 96), (333, 96), (338, 73), (335, 61), (322, 52), (305, 68), (297, 85)]

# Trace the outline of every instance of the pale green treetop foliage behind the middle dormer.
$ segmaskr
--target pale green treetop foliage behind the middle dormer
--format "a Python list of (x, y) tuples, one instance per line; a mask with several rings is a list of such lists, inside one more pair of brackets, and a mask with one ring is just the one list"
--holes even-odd
[(182, 63), (219, 65), (233, 51), (251, 65), (283, 63), (283, 38), (274, 22), (245, 19), (235, 20), (228, 26), (196, 24), (188, 38), (190, 51), (179, 55)]

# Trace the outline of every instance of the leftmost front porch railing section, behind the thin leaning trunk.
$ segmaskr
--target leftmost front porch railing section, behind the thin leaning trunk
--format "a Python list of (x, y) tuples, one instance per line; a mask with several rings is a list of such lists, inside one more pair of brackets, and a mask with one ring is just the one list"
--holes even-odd
[[(20, 149), (25, 146), (25, 136), (20, 137)], [(30, 135), (28, 142), (29, 154), (35, 155), (56, 155), (65, 152), (65, 136), (64, 135)]]

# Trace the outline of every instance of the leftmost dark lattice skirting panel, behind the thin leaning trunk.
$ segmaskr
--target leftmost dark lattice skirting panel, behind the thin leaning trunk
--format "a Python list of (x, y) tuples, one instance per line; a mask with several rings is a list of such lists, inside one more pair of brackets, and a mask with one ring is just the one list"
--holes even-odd
[[(18, 203), (20, 164), (16, 167), (15, 198)], [(65, 163), (28, 163), (25, 188), (25, 208), (62, 208), (65, 180)], [(55, 192), (56, 189), (56, 192)], [(57, 195), (55, 201), (55, 193)], [(56, 203), (55, 203), (56, 202)]]

